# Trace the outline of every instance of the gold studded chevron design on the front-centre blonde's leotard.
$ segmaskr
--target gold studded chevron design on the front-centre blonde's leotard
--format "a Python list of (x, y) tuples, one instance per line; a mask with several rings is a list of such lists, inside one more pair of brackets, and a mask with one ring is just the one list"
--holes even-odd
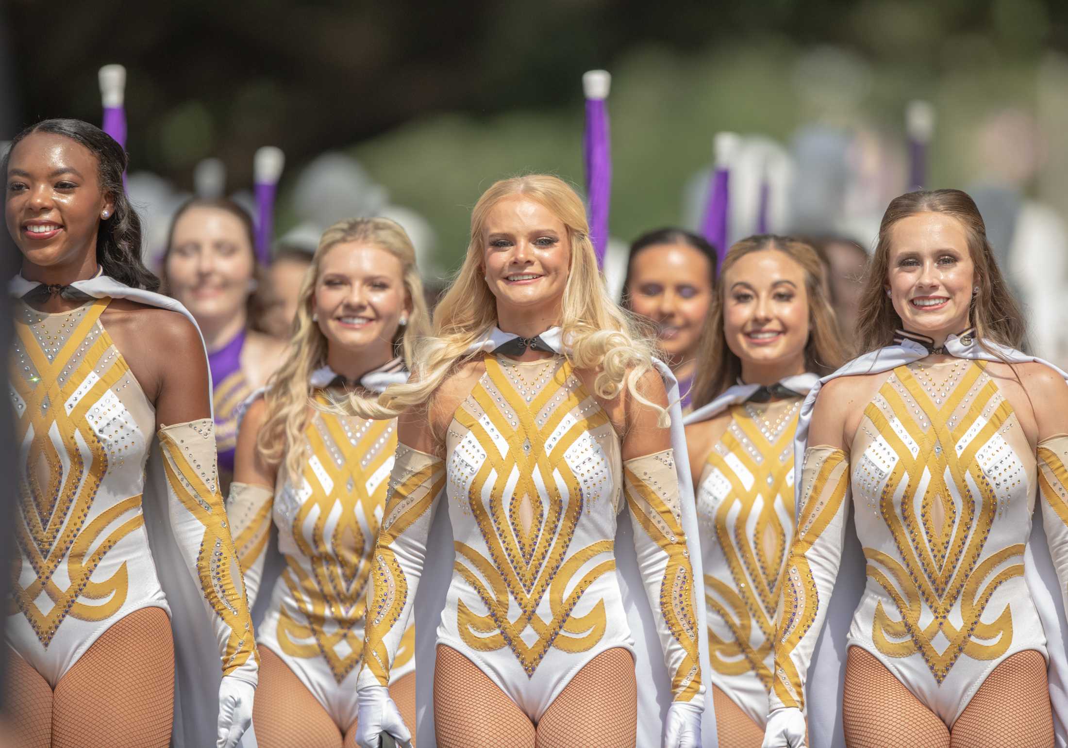
[[(457, 541), (455, 571), (489, 612), (476, 615), (460, 601), (457, 620), (460, 636), (473, 650), (507, 647), (533, 675), (550, 647), (583, 652), (604, 633), (603, 601), (583, 616), (572, 611), (590, 585), (615, 569), (613, 540), (582, 548), (570, 545), (580, 515), (588, 510), (591, 492), (585, 487), (610, 476), (596, 466), (576, 475), (564, 455), (583, 434), (611, 424), (566, 359), (546, 362), (533, 382), (522, 379), (519, 367), (502, 364), (492, 354), (484, 361), (486, 373), (455, 420), (486, 450), (466, 500), (489, 558)], [(591, 566), (597, 557), (603, 558)], [(584, 575), (572, 584), (584, 567)], [(548, 621), (537, 612), (546, 594), (552, 616)], [(528, 628), (536, 635), (531, 644), (522, 638)]]

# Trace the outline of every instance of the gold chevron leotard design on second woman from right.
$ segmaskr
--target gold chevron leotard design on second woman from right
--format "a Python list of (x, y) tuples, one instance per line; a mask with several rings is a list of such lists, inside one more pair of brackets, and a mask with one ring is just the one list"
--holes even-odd
[(801, 400), (774, 404), (774, 424), (765, 421), (768, 410), (732, 405), (731, 425), (708, 455), (703, 476), (704, 481), (714, 475), (717, 486), (709, 488), (723, 494), (711, 520), (727, 564), (716, 573), (706, 570), (705, 601), (732, 634), (721, 638), (708, 628), (710, 664), (724, 675), (753, 671), (769, 690), (768, 655), (786, 545), (794, 536), (792, 524), (784, 526), (782, 518), (794, 516), (794, 432)]

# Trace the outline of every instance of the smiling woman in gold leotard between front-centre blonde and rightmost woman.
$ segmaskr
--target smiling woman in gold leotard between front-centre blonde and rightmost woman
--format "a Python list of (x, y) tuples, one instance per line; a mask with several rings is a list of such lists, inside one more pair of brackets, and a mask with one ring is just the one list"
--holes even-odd
[(794, 432), (801, 401), (842, 363), (813, 248), (755, 236), (723, 260), (703, 324), (686, 418), (705, 573), (721, 746), (759, 748), (775, 606), (794, 537)]

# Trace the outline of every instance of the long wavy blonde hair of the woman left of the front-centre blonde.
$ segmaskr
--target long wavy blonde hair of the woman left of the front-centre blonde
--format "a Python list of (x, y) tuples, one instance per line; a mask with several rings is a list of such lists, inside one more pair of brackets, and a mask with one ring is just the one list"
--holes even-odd
[[(423, 297), (419, 268), (415, 267), (415, 250), (399, 224), (386, 218), (347, 219), (324, 232), (300, 286), (288, 354), (267, 383), (267, 419), (256, 439), (256, 448), (264, 460), (271, 465), (279, 465), (284, 461), (285, 472), (289, 476), (299, 475), (305, 458), (302, 448), (303, 433), (308, 428), (309, 398), (312, 394), (309, 380), (312, 372), (326, 364), (327, 360), (327, 338), (318, 323), (312, 319), (315, 284), (326, 254), (337, 244), (349, 242), (380, 248), (400, 260), (405, 293), (411, 304), (411, 312), (408, 323), (398, 327), (393, 336), (393, 349), (404, 356), (409, 369), (415, 340), (429, 332), (430, 314)], [(368, 399), (360, 394), (352, 394), (352, 398)]]

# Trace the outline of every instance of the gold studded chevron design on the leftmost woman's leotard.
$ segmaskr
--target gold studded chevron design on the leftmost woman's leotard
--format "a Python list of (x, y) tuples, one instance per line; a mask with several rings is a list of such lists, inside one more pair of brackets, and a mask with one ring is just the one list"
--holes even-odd
[[(117, 502), (87, 524), (108, 465), (123, 460), (128, 446), (117, 431), (116, 439), (107, 433), (101, 440), (93, 428), (109, 428), (110, 421), (100, 421), (110, 408), (97, 411), (129, 375), (99, 323), (110, 301), (99, 299), (74, 311), (54, 332), (47, 330), (47, 320), (30, 325), (18, 319), (15, 325), (18, 339), (10, 379), (16, 443), (29, 442), (20, 465), (15, 537), (36, 578), (22, 587), (15, 570), (14, 604), (45, 647), (66, 616), (103, 621), (122, 607), (128, 591), (125, 563), (107, 579), (90, 577), (120, 540), (144, 524), (141, 494)], [(34, 329), (44, 330), (40, 339)], [(128, 520), (112, 527), (127, 514)], [(64, 562), (65, 583), (56, 578)], [(47, 612), (36, 602), (42, 592), (52, 603)]]

